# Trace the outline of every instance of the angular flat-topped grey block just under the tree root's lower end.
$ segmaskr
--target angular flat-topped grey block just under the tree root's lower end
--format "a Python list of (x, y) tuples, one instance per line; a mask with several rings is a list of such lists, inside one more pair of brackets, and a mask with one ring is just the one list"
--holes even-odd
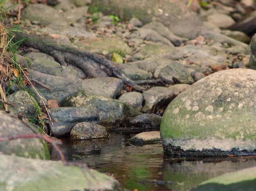
[(91, 78), (81, 81), (80, 91), (90, 94), (116, 98), (121, 94), (123, 82), (121, 79), (114, 77)]

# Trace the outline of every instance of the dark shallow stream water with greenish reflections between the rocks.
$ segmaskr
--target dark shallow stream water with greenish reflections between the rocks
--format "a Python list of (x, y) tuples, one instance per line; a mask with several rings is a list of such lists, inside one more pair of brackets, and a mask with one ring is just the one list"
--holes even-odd
[[(131, 137), (112, 133), (100, 140), (64, 138), (60, 147), (68, 161), (84, 162), (114, 176), (126, 189), (139, 191), (188, 190), (214, 176), (256, 166), (252, 156), (164, 159), (162, 145), (129, 145)], [(52, 160), (59, 160), (54, 149), (50, 148), (50, 154)]]

